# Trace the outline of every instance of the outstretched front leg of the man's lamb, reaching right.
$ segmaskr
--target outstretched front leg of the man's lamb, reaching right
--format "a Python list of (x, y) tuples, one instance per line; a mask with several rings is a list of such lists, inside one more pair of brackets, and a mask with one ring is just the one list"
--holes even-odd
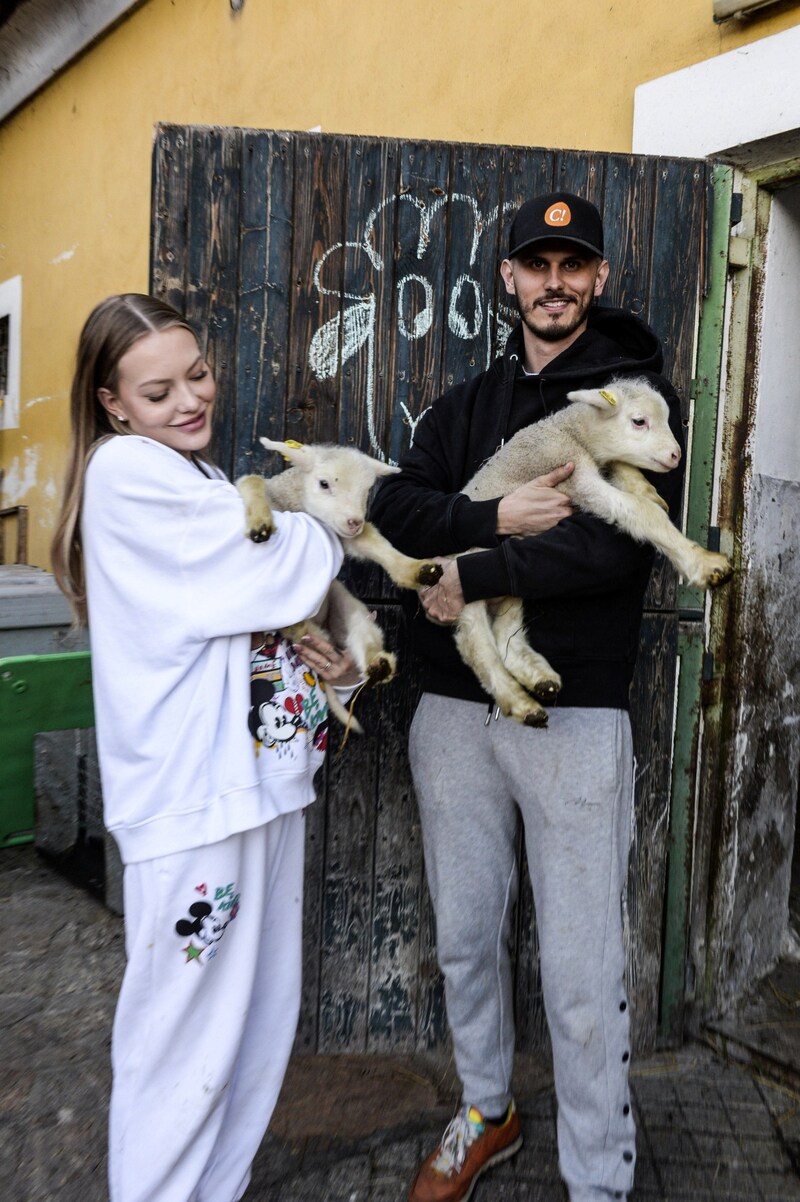
[[(578, 477), (578, 478), (575, 478)], [(578, 469), (571, 478), (571, 495), (580, 508), (620, 526), (632, 538), (650, 542), (669, 559), (681, 576), (700, 588), (714, 588), (729, 579), (730, 560), (714, 551), (705, 551), (676, 530), (663, 510), (652, 501), (620, 492), (599, 472)]]

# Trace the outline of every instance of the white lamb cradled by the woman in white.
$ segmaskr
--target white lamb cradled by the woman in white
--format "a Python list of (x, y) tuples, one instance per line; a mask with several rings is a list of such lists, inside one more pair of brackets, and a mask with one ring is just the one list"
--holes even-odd
[[(289, 466), (277, 476), (243, 476), (237, 488), (245, 502), (245, 531), (255, 542), (264, 542), (273, 534), (271, 510), (305, 512), (324, 522), (342, 540), (345, 554), (366, 559), (389, 575), (404, 589), (434, 584), (442, 575), (438, 564), (410, 559), (378, 534), (365, 520), (370, 489), (380, 476), (399, 471), (387, 463), (371, 459), (354, 447), (299, 446), (261, 439), (269, 451), (279, 451)], [(370, 618), (366, 606), (334, 581), (324, 605), (314, 619), (298, 623), (283, 633), (297, 642), (304, 633), (329, 636), (338, 647), (346, 647), (359, 672), (370, 684), (386, 683), (394, 677), (395, 656), (384, 650), (383, 632)], [(328, 704), (341, 721), (348, 715), (333, 690)], [(350, 718), (352, 730), (359, 724)]]

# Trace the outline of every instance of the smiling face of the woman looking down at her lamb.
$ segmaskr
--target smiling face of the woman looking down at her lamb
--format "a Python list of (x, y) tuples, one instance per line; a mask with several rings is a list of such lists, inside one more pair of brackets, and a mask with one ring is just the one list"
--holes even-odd
[(119, 361), (117, 392), (98, 388), (101, 404), (132, 434), (184, 456), (211, 439), (216, 386), (193, 334), (183, 326), (145, 334)]

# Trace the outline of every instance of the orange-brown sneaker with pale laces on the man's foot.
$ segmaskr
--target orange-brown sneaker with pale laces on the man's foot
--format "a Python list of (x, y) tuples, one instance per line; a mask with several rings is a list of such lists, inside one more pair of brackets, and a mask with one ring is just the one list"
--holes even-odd
[(521, 1147), (523, 1132), (513, 1102), (501, 1124), (484, 1123), (474, 1106), (462, 1106), (417, 1173), (408, 1202), (466, 1202), (480, 1174)]

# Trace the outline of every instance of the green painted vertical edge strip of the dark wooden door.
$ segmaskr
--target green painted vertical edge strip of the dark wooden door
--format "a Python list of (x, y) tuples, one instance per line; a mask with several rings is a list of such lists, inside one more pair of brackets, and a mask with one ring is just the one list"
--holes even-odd
[[(700, 298), (686, 532), (702, 546), (716, 543), (711, 530), (715, 447), (724, 341), (726, 290), (733, 168), (711, 168), (706, 284)], [(706, 655), (705, 594), (682, 584), (679, 606), (679, 677), (667, 862), (659, 1037), (680, 1043), (686, 1002), (689, 894), (692, 881), (695, 781), (700, 754), (704, 682), (714, 678)]]

